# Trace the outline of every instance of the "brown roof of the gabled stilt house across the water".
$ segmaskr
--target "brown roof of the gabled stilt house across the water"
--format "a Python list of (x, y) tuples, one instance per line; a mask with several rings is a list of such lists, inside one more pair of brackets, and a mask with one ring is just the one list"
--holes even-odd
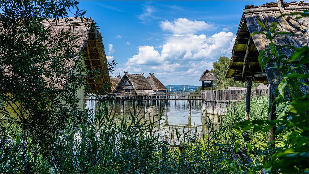
[[(146, 78), (142, 74), (124, 74), (120, 80), (120, 82), (127, 77), (128, 80), (132, 83), (134, 89), (152, 89), (149, 83), (147, 82)], [(115, 87), (115, 89), (118, 88), (118, 85)]]

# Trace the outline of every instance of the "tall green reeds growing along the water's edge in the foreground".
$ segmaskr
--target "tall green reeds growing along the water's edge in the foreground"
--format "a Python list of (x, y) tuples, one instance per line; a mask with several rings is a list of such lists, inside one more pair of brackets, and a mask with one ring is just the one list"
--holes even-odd
[[(267, 119), (267, 98), (251, 103), (252, 119)], [(268, 158), (267, 133), (236, 127), (243, 121), (244, 104), (230, 108), (214, 121), (204, 117), (207, 130), (174, 129), (165, 140), (162, 112), (148, 117), (136, 106), (127, 118), (101, 103), (87, 121), (59, 132), (55, 143), (43, 149), (15, 124), (1, 123), (1, 172), (9, 173), (244, 173), (262, 172)], [(160, 109), (161, 110), (161, 109)], [(142, 117), (141, 117), (142, 116)], [(151, 121), (150, 121), (151, 120)], [(5, 122), (5, 124), (4, 124)], [(169, 127), (168, 132), (171, 132)], [(246, 139), (247, 138), (247, 139)], [(48, 140), (46, 140), (48, 141)], [(181, 151), (181, 146), (184, 151)]]

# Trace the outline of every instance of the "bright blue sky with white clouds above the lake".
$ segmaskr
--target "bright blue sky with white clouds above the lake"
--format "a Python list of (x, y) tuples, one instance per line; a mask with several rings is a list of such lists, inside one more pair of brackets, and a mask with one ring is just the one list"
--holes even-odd
[[(245, 5), (270, 1), (79, 1), (103, 36), (114, 74), (149, 72), (164, 84), (200, 85), (205, 69), (231, 56)], [(111, 76), (114, 76), (111, 74)]]

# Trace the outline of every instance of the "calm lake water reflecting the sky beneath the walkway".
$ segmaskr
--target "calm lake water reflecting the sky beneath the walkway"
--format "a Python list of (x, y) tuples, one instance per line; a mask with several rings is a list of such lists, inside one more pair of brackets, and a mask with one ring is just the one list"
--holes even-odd
[[(121, 113), (121, 104), (120, 102), (109, 102), (108, 108), (111, 108), (114, 105), (112, 114), (115, 113), (116, 120), (119, 121), (119, 118), (126, 117), (128, 118), (129, 109), (133, 112), (133, 103), (125, 102), (125, 113)], [(136, 101), (135, 105), (137, 109), (141, 110), (139, 117), (144, 115), (144, 101)], [(179, 129), (179, 132), (183, 134), (183, 131), (190, 131), (190, 134), (199, 134), (200, 136), (207, 133), (207, 125), (205, 125), (205, 115), (203, 115), (201, 101), (192, 100), (191, 101), (191, 114), (188, 110), (188, 101), (185, 100), (169, 100), (167, 112), (165, 111), (164, 101), (147, 101), (146, 105), (146, 116), (148, 118), (148, 112), (151, 116), (161, 113), (161, 120), (158, 116), (155, 116), (154, 121), (157, 121), (157, 125), (160, 125), (157, 129), (162, 134), (170, 136), (172, 129)], [(95, 100), (88, 100), (86, 102), (86, 107), (88, 109), (93, 109), (92, 112), (97, 112), (98, 104)], [(209, 115), (208, 115), (209, 116)], [(217, 120), (217, 116), (210, 116), (211, 119)]]

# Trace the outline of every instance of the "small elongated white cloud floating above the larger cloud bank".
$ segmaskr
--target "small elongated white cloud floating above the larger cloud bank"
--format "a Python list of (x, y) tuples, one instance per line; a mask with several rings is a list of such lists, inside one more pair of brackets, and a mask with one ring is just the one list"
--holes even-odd
[(214, 28), (214, 25), (204, 21), (193, 21), (187, 18), (177, 18), (174, 19), (174, 21), (161, 21), (160, 27), (164, 31), (170, 31), (175, 34), (194, 34), (198, 31)]

